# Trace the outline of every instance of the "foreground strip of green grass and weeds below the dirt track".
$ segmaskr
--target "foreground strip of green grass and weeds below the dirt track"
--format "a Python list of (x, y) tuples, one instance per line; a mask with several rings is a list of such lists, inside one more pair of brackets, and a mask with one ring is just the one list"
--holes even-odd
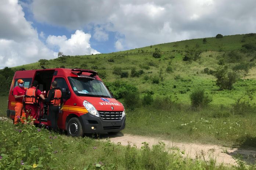
[[(0, 170), (235, 170), (168, 151), (163, 143), (142, 149), (120, 146), (89, 137), (72, 138), (34, 126), (0, 121)], [(14, 147), (15, 146), (15, 147)], [(243, 163), (239, 164), (245, 166)], [(254, 169), (254, 165), (246, 169)], [(241, 168), (240, 168), (241, 169)]]

